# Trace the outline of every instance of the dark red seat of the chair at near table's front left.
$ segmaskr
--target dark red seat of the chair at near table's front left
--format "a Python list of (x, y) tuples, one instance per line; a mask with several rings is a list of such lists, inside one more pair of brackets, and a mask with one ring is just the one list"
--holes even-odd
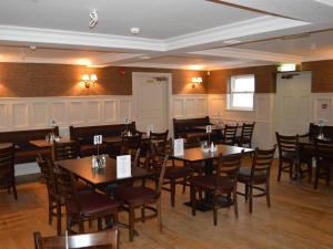
[[(81, 215), (92, 216), (94, 214), (113, 214), (117, 212), (121, 205), (119, 200), (111, 200), (108, 196), (99, 193), (78, 193), (78, 201), (81, 205)], [(68, 209), (71, 214), (78, 214), (77, 206), (69, 203)]]

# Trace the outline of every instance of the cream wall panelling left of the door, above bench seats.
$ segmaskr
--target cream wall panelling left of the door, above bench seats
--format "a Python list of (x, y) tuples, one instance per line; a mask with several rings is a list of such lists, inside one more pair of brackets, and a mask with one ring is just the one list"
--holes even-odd
[(47, 128), (51, 118), (61, 128), (122, 123), (132, 118), (131, 102), (129, 95), (1, 97), (0, 131)]

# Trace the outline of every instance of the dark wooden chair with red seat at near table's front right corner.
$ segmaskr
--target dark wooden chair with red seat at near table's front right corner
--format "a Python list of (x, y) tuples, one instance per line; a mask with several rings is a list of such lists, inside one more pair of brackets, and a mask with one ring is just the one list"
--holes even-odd
[[(151, 168), (160, 167), (159, 183), (155, 189), (143, 186), (138, 187), (122, 187), (118, 188), (114, 196), (115, 199), (123, 201), (124, 208), (129, 212), (129, 228), (130, 228), (130, 241), (133, 241), (134, 237), (134, 222), (145, 219), (158, 217), (159, 229), (162, 230), (162, 212), (161, 212), (161, 190), (168, 162), (167, 156), (159, 156), (159, 159), (154, 158), (157, 165)], [(152, 206), (152, 205), (155, 205)], [(141, 217), (135, 217), (135, 209), (141, 209)], [(145, 209), (152, 211), (151, 215), (145, 215)]]

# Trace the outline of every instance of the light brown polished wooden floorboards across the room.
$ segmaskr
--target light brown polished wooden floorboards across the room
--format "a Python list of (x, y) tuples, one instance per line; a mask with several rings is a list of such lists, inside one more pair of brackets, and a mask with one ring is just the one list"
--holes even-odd
[[(275, 166), (274, 166), (275, 168)], [(218, 226), (213, 226), (212, 212), (196, 212), (192, 217), (183, 203), (189, 190), (178, 189), (176, 204), (170, 207), (169, 193), (163, 193), (163, 232), (158, 231), (155, 220), (138, 224), (139, 237), (129, 242), (128, 230), (121, 230), (120, 249), (208, 249), (208, 248), (333, 248), (333, 186), (323, 184), (319, 190), (312, 185), (296, 185), (286, 174), (276, 183), (273, 170), (272, 207), (265, 198), (254, 201), (254, 212), (239, 197), (239, 219), (233, 209), (220, 209)], [(47, 191), (40, 183), (20, 185), (19, 199), (6, 191), (0, 193), (0, 249), (33, 249), (32, 232), (40, 230), (44, 236), (56, 235), (56, 226), (48, 225)], [(127, 214), (120, 219), (127, 222)]]

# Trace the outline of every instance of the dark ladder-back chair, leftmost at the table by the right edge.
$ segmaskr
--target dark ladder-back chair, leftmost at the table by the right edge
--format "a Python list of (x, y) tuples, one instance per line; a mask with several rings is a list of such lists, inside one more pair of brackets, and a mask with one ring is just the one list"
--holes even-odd
[(279, 148), (279, 172), (278, 181), (281, 179), (281, 173), (289, 173), (289, 177), (293, 176), (293, 167), (297, 164), (297, 136), (284, 136), (278, 132), (276, 142)]

